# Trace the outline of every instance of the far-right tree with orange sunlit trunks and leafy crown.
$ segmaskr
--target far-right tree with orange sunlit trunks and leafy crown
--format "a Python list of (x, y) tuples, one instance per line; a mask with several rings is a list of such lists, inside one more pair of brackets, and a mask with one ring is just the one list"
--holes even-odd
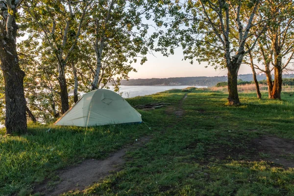
[[(252, 28), (257, 40), (257, 48), (251, 53), (257, 63), (251, 64), (267, 76), (269, 98), (280, 99), (282, 73), (293, 62), (294, 19), (292, 0), (265, 0), (257, 18), (268, 20), (266, 31), (258, 38), (258, 30)], [(263, 68), (264, 67), (264, 68)], [(271, 72), (274, 71), (274, 82)]]

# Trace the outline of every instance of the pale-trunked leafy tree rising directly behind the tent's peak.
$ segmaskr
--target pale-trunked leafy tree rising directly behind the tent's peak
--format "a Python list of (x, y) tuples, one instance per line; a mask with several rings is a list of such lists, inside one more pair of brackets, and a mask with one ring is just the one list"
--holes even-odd
[[(95, 31), (94, 49), (96, 68), (91, 90), (106, 87), (108, 82), (120, 83), (128, 78), (130, 71), (135, 71), (130, 64), (137, 61), (137, 55), (143, 55), (141, 64), (148, 49), (144, 37), (148, 26), (142, 23), (141, 16), (147, 11), (144, 1), (105, 0), (95, 4), (93, 9)], [(102, 71), (102, 72), (101, 72)], [(113, 79), (115, 75), (116, 81)], [(117, 85), (115, 85), (118, 87)]]

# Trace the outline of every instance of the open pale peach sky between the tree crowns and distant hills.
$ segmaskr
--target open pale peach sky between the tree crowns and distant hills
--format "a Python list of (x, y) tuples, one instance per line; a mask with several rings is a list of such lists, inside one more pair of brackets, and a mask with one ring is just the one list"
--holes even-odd
[[(139, 63), (132, 66), (137, 70), (137, 73), (129, 73), (130, 79), (138, 78), (167, 78), (167, 77), (192, 77), (192, 76), (223, 76), (227, 74), (226, 69), (215, 70), (213, 67), (208, 66), (207, 63), (194, 61), (190, 64), (190, 60), (183, 60), (181, 49), (176, 49), (174, 55), (169, 57), (163, 56), (160, 52), (154, 53), (155, 56), (148, 54), (147, 62), (143, 65)], [(241, 65), (239, 74), (252, 73), (248, 65)]]

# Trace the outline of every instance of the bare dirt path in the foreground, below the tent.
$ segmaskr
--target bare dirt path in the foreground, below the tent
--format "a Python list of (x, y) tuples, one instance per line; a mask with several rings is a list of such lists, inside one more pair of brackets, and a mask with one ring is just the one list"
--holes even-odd
[[(151, 136), (144, 137), (123, 149), (112, 153), (107, 159), (88, 159), (82, 163), (58, 172), (61, 181), (53, 182), (54, 187), (49, 188), (49, 181), (37, 185), (34, 193), (41, 193), (44, 196), (58, 196), (71, 190), (84, 190), (87, 186), (97, 182), (101, 178), (110, 175), (111, 172), (118, 172), (125, 162), (123, 156), (127, 151), (144, 146)], [(52, 182), (50, 182), (52, 183)]]

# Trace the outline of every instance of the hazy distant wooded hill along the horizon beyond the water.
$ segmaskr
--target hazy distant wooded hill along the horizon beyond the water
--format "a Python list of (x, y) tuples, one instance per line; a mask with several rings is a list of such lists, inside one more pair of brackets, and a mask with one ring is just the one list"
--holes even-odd
[[(284, 74), (284, 78), (293, 78), (294, 74)], [(257, 80), (266, 79), (265, 74), (257, 75)], [(252, 74), (238, 75), (238, 79), (243, 81), (252, 81)], [(149, 78), (149, 79), (129, 79), (122, 80), (121, 84), (124, 86), (215, 86), (219, 82), (227, 81), (227, 76), (197, 76), (197, 77), (169, 77), (169, 78)]]

